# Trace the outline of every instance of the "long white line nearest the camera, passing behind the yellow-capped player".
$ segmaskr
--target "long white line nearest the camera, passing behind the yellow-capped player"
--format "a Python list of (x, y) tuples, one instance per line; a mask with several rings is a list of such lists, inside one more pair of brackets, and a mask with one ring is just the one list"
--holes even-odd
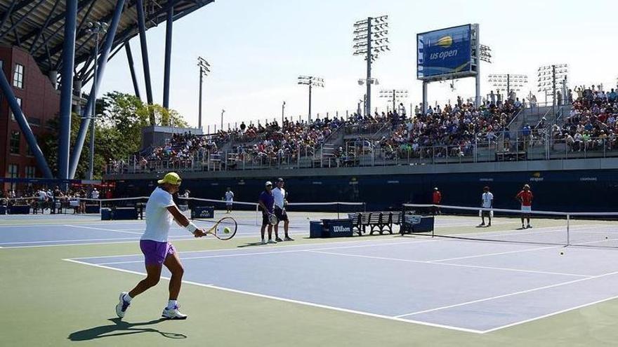
[[(63, 260), (70, 261), (70, 262), (73, 262), (73, 263), (76, 263), (76, 264), (95, 266), (95, 267), (98, 267), (98, 268), (106, 268), (108, 270), (121, 271), (121, 272), (125, 272), (125, 273), (133, 273), (133, 274), (136, 274), (136, 275), (146, 275), (145, 273), (140, 273), (138, 271), (124, 270), (122, 268), (112, 268), (110, 266), (104, 266), (104, 265), (99, 265), (99, 264), (90, 264), (90, 263), (86, 263), (86, 262), (78, 261), (78, 260), (74, 260), (74, 259), (63, 259)], [(161, 278), (163, 278), (164, 280), (169, 280), (169, 278), (164, 277), (164, 276), (161, 276)], [(308, 302), (308, 301), (286, 299), (286, 298), (275, 297), (275, 296), (267, 295), (267, 294), (259, 294), (259, 293), (255, 293), (255, 292), (246, 292), (244, 290), (235, 290), (235, 289), (228, 288), (228, 287), (220, 287), (218, 285), (205, 285), (203, 283), (197, 283), (197, 282), (192, 282), (192, 281), (187, 281), (187, 280), (183, 280), (183, 283), (187, 283), (189, 285), (196, 285), (196, 286), (199, 286), (199, 287), (211, 288), (211, 289), (214, 289), (214, 290), (223, 290), (225, 292), (232, 292), (232, 293), (236, 293), (236, 294), (250, 295), (251, 297), (260, 297), (260, 298), (264, 298), (264, 299), (284, 301), (284, 302), (289, 302), (291, 304), (301, 304), (301, 305), (313, 306), (313, 307), (317, 307), (317, 308), (326, 308), (326, 309), (329, 309), (329, 310), (332, 310), (332, 311), (339, 311), (339, 312), (345, 312), (345, 313), (353, 313), (353, 314), (356, 314), (356, 315), (365, 315), (365, 316), (374, 317), (374, 318), (382, 318), (382, 319), (388, 319), (388, 320), (395, 320), (397, 322), (414, 323), (414, 324), (418, 324), (418, 325), (425, 325), (425, 326), (428, 326), (428, 327), (438, 327), (438, 328), (442, 328), (442, 329), (452, 329), (452, 330), (457, 330), (459, 332), (472, 332), (472, 333), (475, 333), (475, 334), (482, 334), (482, 331), (475, 330), (475, 329), (466, 329), (466, 328), (462, 328), (462, 327), (453, 327), (453, 326), (450, 326), (450, 325), (440, 325), (440, 324), (435, 324), (435, 323), (430, 323), (430, 322), (423, 322), (421, 320), (408, 320), (408, 319), (403, 319), (403, 318), (391, 317), (390, 315), (380, 315), (380, 314), (377, 314), (377, 313), (369, 313), (369, 312), (364, 312), (364, 311), (355, 311), (355, 310), (350, 310), (348, 308), (341, 308), (341, 307), (335, 307), (335, 306), (327, 306), (327, 305), (322, 305), (322, 304), (315, 304), (313, 302)]]

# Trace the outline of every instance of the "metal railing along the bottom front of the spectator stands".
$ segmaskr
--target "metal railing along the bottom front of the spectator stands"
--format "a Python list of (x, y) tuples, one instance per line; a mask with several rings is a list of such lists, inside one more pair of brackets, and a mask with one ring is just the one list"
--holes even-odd
[[(526, 133), (527, 134), (527, 133)], [(355, 166), (427, 165), (483, 163), (494, 161), (564, 160), (618, 157), (618, 140), (610, 137), (586, 137), (582, 140), (553, 139), (543, 133), (515, 137), (495, 137), (464, 144), (418, 147), (402, 144), (396, 147), (372, 144), (359, 151), (346, 146), (346, 151), (322, 156), (321, 147), (303, 147), (294, 153), (205, 152), (191, 159), (172, 161), (133, 161), (107, 165), (106, 173), (136, 174), (147, 172), (209, 172), (230, 170), (266, 170), (297, 168), (341, 168)]]

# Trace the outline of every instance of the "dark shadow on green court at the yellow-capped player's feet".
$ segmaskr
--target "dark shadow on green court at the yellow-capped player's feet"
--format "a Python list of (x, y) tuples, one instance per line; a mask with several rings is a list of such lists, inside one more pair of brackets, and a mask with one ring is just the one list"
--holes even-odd
[(72, 332), (68, 339), (71, 341), (88, 341), (93, 339), (100, 339), (103, 337), (110, 336), (122, 336), (122, 335), (131, 335), (131, 334), (142, 334), (142, 333), (157, 333), (161, 334), (161, 336), (166, 337), (167, 339), (186, 339), (187, 336), (184, 334), (176, 334), (174, 332), (162, 332), (159, 329), (155, 329), (152, 327), (141, 327), (143, 325), (153, 325), (158, 322), (162, 322), (166, 320), (164, 318), (159, 318), (157, 320), (151, 320), (150, 322), (138, 322), (138, 323), (130, 323), (124, 322), (119, 318), (110, 319), (114, 324), (110, 325), (101, 325), (99, 327), (91, 327), (84, 330), (79, 330), (79, 332)]

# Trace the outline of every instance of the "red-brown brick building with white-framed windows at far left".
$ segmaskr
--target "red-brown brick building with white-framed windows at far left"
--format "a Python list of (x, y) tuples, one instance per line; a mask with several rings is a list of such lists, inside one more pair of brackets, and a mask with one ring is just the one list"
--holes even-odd
[[(0, 46), (0, 64), (21, 104), (35, 137), (50, 131), (47, 122), (58, 116), (60, 90), (41, 73), (37, 62), (18, 47)], [(0, 93), (0, 169), (4, 177), (41, 177), (22, 130)], [(4, 189), (8, 189), (5, 186)]]

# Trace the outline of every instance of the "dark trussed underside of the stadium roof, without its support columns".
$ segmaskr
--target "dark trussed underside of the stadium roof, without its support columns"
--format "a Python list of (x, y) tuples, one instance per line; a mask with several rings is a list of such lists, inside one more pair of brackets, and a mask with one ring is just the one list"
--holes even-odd
[[(110, 58), (124, 43), (138, 35), (138, 3), (142, 3), (145, 29), (156, 27), (167, 19), (169, 6), (173, 6), (173, 20), (183, 18), (214, 0), (128, 0), (124, 4)], [(75, 37), (75, 66), (84, 64), (86, 69), (77, 71), (75, 77), (86, 81), (91, 70), (95, 42), (86, 30), (87, 22), (112, 20), (116, 1), (81, 0), (77, 3), (77, 32)], [(63, 28), (65, 26), (65, 1), (60, 0), (0, 0), (0, 44), (27, 50), (39, 64), (41, 72), (58, 70), (63, 63)], [(84, 79), (86, 77), (86, 79)]]

